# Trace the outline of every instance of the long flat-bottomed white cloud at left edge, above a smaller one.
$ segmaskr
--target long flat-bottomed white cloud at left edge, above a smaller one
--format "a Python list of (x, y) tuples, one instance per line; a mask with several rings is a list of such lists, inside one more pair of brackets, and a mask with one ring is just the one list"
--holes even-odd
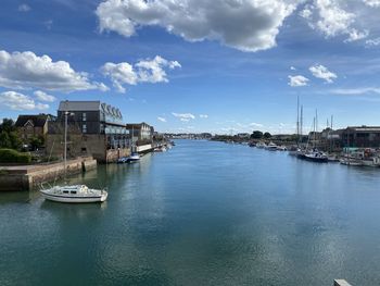
[(31, 51), (0, 51), (0, 86), (74, 91), (102, 89), (104, 85), (90, 83), (87, 73), (75, 72), (65, 61), (53, 62), (50, 57), (38, 57)]

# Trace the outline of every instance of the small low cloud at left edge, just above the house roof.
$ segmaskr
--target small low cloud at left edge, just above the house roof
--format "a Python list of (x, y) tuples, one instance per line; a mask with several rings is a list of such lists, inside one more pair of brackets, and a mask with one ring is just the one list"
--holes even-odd
[(4, 91), (0, 94), (0, 105), (11, 110), (47, 110), (48, 104), (36, 102), (28, 96), (15, 91)]

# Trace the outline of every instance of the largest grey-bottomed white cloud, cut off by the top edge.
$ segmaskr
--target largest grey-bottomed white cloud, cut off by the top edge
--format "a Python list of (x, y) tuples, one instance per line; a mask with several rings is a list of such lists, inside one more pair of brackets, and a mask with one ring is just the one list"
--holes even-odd
[(296, 1), (283, 0), (107, 0), (99, 4), (100, 30), (125, 37), (141, 26), (160, 26), (188, 41), (217, 40), (242, 51), (276, 46)]

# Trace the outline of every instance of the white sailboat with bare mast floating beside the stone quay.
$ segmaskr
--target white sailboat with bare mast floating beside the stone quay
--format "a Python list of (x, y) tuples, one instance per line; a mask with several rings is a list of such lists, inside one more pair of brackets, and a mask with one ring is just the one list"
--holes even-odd
[[(67, 165), (67, 116), (68, 111), (65, 111), (65, 130), (64, 130), (64, 174), (66, 178)], [(92, 189), (86, 185), (61, 185), (51, 188), (41, 188), (40, 192), (47, 200), (59, 202), (103, 202), (109, 194), (104, 189)]]

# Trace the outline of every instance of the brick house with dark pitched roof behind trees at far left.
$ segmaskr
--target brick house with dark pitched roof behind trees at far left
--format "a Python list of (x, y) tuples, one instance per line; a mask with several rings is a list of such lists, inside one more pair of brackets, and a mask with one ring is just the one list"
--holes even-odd
[(48, 133), (49, 114), (18, 115), (15, 126), (24, 144), (28, 144), (33, 137), (46, 139)]

